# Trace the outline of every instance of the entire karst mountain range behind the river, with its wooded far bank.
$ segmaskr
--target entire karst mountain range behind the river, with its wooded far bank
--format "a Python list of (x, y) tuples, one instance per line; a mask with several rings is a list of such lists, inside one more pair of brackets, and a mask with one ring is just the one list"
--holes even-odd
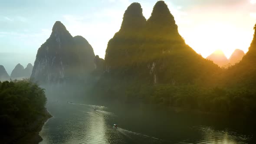
[[(221, 113), (227, 118), (254, 117), (255, 121), (256, 25), (254, 30), (246, 55), (236, 49), (230, 59), (222, 51), (204, 59), (185, 43), (164, 1), (154, 5), (148, 20), (141, 5), (131, 3), (121, 28), (108, 42), (105, 59), (95, 56), (85, 38), (73, 37), (56, 21), (49, 39), (38, 49), (31, 78), (56, 84), (58, 88), (51, 90), (61, 95), (86, 94), (100, 100)], [(25, 70), (18, 64), (11, 77), (23, 76), (31, 67)], [(3, 66), (0, 79), (9, 79)]]

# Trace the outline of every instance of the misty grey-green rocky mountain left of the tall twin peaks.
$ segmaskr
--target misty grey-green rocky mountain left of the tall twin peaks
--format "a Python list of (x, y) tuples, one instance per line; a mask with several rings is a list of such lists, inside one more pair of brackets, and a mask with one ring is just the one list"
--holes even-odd
[(40, 83), (83, 79), (93, 70), (94, 52), (82, 36), (72, 37), (57, 21), (49, 39), (38, 49), (31, 77)]

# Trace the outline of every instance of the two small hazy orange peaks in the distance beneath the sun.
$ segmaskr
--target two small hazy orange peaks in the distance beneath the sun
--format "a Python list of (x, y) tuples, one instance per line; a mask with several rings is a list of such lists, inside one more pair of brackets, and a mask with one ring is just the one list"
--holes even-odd
[(244, 55), (245, 53), (242, 50), (236, 49), (230, 56), (230, 59), (227, 59), (222, 50), (216, 50), (206, 59), (212, 60), (215, 64), (219, 65), (220, 67), (227, 68), (231, 65), (236, 64), (237, 62), (240, 62), (240, 60), (243, 59)]

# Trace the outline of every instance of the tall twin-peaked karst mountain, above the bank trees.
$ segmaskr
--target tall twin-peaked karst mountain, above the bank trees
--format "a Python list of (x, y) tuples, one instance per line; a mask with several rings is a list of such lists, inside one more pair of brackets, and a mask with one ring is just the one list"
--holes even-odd
[(108, 42), (105, 62), (108, 75), (130, 83), (191, 84), (219, 70), (184, 42), (164, 1), (155, 4), (147, 21), (139, 3), (128, 7)]

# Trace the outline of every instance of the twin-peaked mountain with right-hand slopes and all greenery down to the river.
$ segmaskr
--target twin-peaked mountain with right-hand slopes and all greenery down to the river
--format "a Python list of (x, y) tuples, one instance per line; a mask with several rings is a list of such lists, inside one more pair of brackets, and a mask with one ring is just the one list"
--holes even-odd
[(128, 7), (105, 64), (96, 97), (225, 115), (256, 112), (256, 35), (240, 63), (221, 69), (184, 42), (163, 1), (146, 21), (140, 4)]

